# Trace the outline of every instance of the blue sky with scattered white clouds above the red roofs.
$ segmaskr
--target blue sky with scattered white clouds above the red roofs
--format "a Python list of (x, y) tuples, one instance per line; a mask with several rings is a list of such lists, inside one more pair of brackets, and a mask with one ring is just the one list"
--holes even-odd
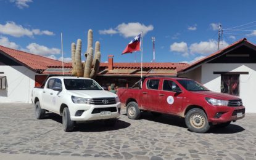
[(68, 61), (71, 43), (82, 39), (84, 53), (92, 29), (94, 42), (101, 42), (101, 62), (107, 55), (114, 62), (140, 62), (140, 52), (121, 54), (143, 29), (143, 62), (152, 61), (152, 36), (156, 62), (192, 62), (217, 50), (219, 24), (221, 47), (245, 37), (256, 43), (255, 6), (252, 0), (0, 0), (0, 45), (59, 59), (62, 32)]

